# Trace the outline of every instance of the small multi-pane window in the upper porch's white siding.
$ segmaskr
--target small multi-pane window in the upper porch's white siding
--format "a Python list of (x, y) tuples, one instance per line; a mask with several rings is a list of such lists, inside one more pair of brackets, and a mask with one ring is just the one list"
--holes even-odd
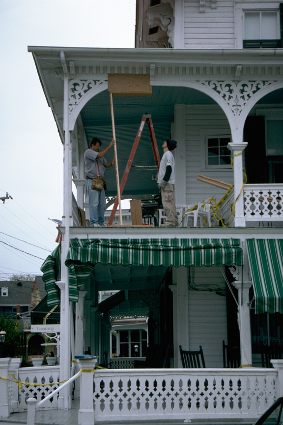
[(206, 136), (206, 168), (231, 168), (231, 151), (227, 148), (231, 136)]

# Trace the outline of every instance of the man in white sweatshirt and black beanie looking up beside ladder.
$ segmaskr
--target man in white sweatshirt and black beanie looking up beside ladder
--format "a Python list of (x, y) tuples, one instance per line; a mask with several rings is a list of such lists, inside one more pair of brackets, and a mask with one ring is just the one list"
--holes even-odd
[(157, 184), (161, 192), (162, 205), (166, 215), (166, 221), (162, 224), (163, 227), (178, 226), (174, 200), (175, 160), (171, 152), (176, 146), (177, 142), (171, 139), (167, 139), (162, 145), (164, 154), (160, 161)]

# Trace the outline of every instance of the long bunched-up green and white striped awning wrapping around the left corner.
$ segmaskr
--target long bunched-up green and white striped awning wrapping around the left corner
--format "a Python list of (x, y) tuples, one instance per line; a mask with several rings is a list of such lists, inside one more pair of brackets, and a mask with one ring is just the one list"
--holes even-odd
[[(49, 305), (59, 302), (55, 283), (59, 280), (59, 251), (58, 246), (41, 268)], [(70, 301), (78, 301), (78, 288), (96, 263), (155, 267), (242, 266), (243, 250), (239, 239), (71, 239), (65, 261), (69, 268)]]

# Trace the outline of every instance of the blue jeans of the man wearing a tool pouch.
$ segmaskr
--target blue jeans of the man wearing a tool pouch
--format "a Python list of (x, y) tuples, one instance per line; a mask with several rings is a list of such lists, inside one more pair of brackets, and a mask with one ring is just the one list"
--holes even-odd
[(90, 225), (94, 223), (102, 225), (104, 223), (104, 212), (106, 207), (105, 191), (104, 188), (101, 191), (92, 190), (91, 184), (92, 180), (85, 180), (85, 187), (88, 193)]

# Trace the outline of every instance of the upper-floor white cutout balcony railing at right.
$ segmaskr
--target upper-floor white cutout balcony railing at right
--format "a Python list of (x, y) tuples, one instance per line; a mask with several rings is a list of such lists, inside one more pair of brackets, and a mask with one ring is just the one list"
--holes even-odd
[(245, 184), (246, 221), (283, 221), (283, 184)]

